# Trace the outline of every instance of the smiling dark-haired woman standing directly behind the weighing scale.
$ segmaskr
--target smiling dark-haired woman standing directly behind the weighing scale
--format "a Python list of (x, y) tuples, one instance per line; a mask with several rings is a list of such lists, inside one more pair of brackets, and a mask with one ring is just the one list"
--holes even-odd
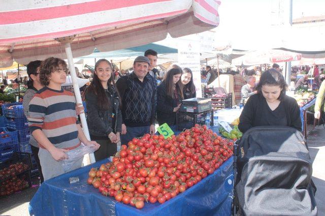
[(196, 88), (193, 82), (193, 73), (191, 69), (185, 67), (182, 71), (181, 82), (183, 84), (184, 99), (196, 98)]

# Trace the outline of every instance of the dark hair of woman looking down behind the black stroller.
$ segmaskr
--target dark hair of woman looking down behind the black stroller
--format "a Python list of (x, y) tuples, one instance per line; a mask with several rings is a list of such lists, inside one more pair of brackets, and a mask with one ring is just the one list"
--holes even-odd
[(286, 89), (288, 87), (287, 83), (284, 80), (283, 75), (274, 68), (271, 68), (264, 73), (262, 73), (261, 78), (256, 86), (257, 93), (262, 94), (262, 86), (263, 85), (274, 85), (279, 86), (281, 90), (281, 94), (279, 96), (279, 100), (281, 100), (281, 96), (285, 95)]

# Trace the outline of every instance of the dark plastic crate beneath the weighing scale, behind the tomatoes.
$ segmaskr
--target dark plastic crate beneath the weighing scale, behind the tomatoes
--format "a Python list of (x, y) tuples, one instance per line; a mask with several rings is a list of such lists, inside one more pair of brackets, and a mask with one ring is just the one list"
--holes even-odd
[(177, 112), (176, 113), (176, 129), (183, 131), (189, 129), (195, 124), (205, 124), (206, 116), (210, 114), (210, 125), (213, 125), (213, 110), (201, 113)]

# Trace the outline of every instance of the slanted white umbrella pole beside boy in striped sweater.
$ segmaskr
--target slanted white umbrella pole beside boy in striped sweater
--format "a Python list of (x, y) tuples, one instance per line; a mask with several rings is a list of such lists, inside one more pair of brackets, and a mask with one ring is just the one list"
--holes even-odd
[[(69, 64), (69, 69), (70, 69), (70, 74), (71, 74), (71, 78), (72, 78), (72, 84), (73, 84), (73, 89), (75, 92), (76, 101), (77, 101), (77, 104), (82, 104), (81, 95), (80, 95), (80, 91), (79, 91), (79, 85), (78, 85), (78, 81), (77, 81), (77, 74), (76, 74), (76, 70), (75, 70), (75, 65), (73, 63), (73, 57), (72, 57), (70, 43), (67, 42), (66, 44), (64, 44), (64, 48), (66, 49), (66, 54), (67, 54), (67, 58), (68, 58), (68, 64)], [(89, 135), (89, 131), (88, 131), (85, 113), (80, 114), (80, 120), (81, 120), (83, 133), (85, 134), (86, 138), (88, 140), (90, 140), (90, 135)], [(89, 158), (90, 158), (90, 163), (96, 162), (95, 156), (93, 155), (93, 153), (89, 154)]]

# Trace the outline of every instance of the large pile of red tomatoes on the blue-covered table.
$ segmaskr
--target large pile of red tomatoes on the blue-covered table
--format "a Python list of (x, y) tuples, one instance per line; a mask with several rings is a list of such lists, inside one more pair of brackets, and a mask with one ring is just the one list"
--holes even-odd
[(177, 136), (146, 134), (121, 146), (113, 162), (89, 171), (87, 183), (105, 196), (142, 208), (164, 203), (212, 174), (233, 154), (233, 142), (206, 125), (196, 124)]

